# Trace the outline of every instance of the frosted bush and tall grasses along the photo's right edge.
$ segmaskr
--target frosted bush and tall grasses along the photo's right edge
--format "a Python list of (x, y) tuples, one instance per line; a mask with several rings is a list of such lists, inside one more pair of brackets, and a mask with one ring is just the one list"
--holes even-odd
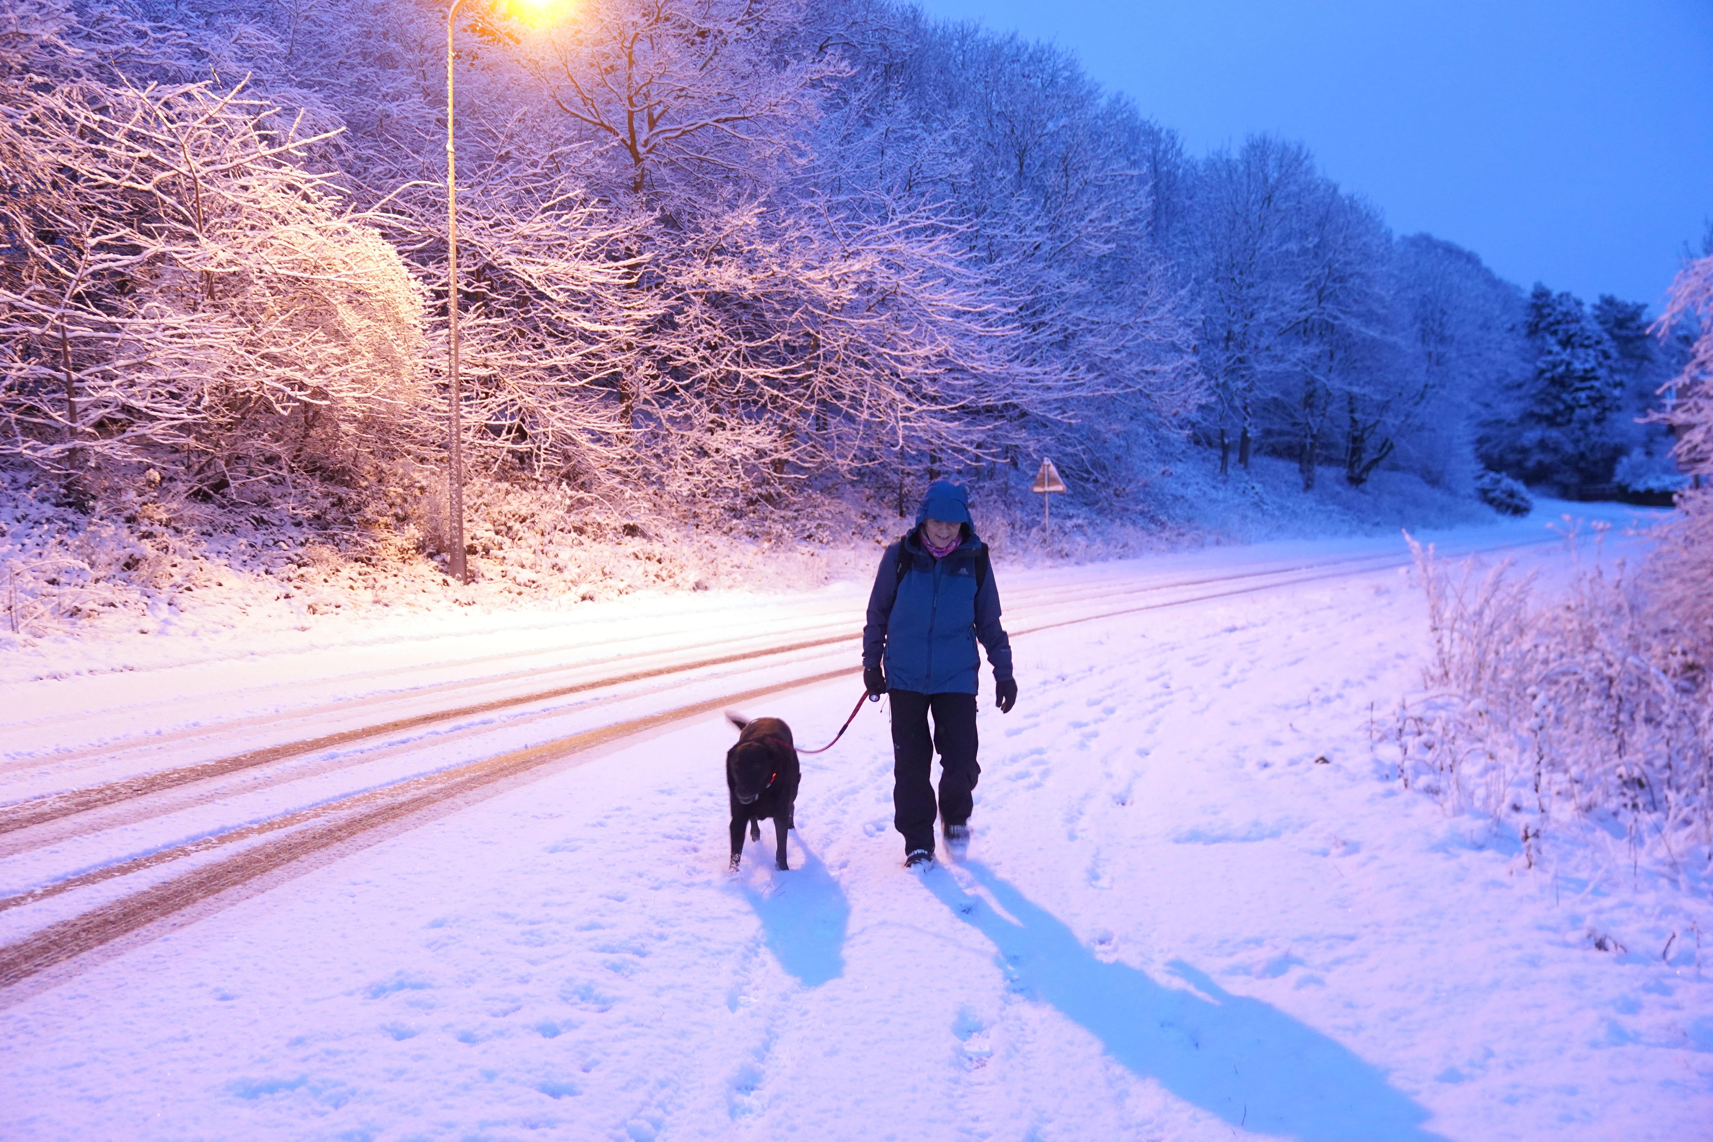
[[(1687, 265), (1656, 325), (1692, 329), (1662, 414), (1675, 461), (1713, 476), (1713, 257)], [(1569, 536), (1573, 558), (1576, 536)], [(1555, 817), (1586, 817), (1662, 868), (1713, 865), (1713, 488), (1679, 497), (1639, 572), (1598, 556), (1542, 598), (1412, 541), (1434, 657), (1398, 707), (1400, 776), (1447, 806), (1519, 825), (1530, 859)]]

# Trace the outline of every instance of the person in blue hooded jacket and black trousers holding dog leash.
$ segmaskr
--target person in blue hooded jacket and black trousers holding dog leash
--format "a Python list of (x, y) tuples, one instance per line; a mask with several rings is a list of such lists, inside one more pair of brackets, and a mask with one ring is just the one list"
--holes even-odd
[[(916, 526), (880, 556), (862, 632), (863, 685), (891, 693), (892, 825), (904, 834), (904, 865), (934, 859), (935, 810), (946, 848), (963, 856), (970, 844), (976, 764), (975, 699), (987, 647), (995, 705), (1009, 714), (1018, 700), (1011, 639), (999, 625), (999, 587), (987, 544), (975, 534), (970, 495), (935, 479), (916, 509)], [(928, 716), (934, 733), (928, 733)], [(940, 753), (935, 803), (934, 752)]]

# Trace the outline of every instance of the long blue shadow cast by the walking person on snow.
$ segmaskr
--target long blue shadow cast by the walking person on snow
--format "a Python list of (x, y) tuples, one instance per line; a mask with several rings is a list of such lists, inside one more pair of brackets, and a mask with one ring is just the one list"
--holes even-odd
[(935, 871), (923, 878), (952, 914), (999, 949), (1014, 991), (1052, 1003), (1134, 1074), (1233, 1127), (1304, 1142), (1444, 1142), (1427, 1111), (1357, 1055), (1285, 1012), (1221, 990), (1182, 961), (1194, 991), (1096, 959), (1076, 935), (978, 863), (963, 865), (994, 901)]

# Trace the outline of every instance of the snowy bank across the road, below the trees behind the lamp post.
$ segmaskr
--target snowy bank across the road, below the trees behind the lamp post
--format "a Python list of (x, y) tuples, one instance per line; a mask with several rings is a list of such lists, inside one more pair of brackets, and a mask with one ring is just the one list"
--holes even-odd
[[(1170, 479), (1155, 490), (1161, 505), (1139, 512), (1132, 526), (1057, 507), (1052, 556), (1040, 543), (1038, 497), (988, 490), (978, 509), (983, 538), (1014, 577), (1019, 567), (1088, 565), (1115, 553), (1146, 553), (1163, 570), (1288, 558), (1326, 550), (1324, 536), (1333, 534), (1346, 536), (1333, 543), (1350, 550), (1393, 548), (1403, 520), (1475, 534), (1538, 532), (1540, 519), (1557, 512), (1542, 503), (1530, 520), (1501, 520), (1400, 473), (1376, 473), (1364, 490), (1324, 479), (1304, 495), (1295, 464), (1269, 457), (1256, 457), (1249, 474), (1221, 478), (1192, 450), (1165, 471)], [(1028, 486), (1026, 474), (1019, 479)], [(809, 587), (865, 580), (906, 524), (889, 503), (824, 498), (824, 515), (774, 520), (776, 534), (656, 534), (498, 485), (469, 491), (478, 580), (461, 586), (391, 532), (322, 532), (266, 514), (231, 519), (149, 495), (127, 500), (118, 515), (84, 517), (57, 505), (46, 488), (0, 473), (0, 683), (242, 659), (257, 649), (368, 654), (389, 642), (447, 647), (507, 632), (529, 640), (534, 630), (600, 627), (615, 616), (701, 622), (709, 608), (773, 608), (781, 596), (812, 596)], [(1199, 522), (1185, 529), (1182, 520)], [(1233, 539), (1249, 543), (1194, 550)], [(101, 654), (91, 654), (94, 644)]]

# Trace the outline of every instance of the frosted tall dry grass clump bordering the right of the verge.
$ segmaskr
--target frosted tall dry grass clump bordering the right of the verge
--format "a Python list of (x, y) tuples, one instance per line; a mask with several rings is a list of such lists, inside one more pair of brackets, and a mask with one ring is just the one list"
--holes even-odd
[[(1482, 567), (1412, 541), (1432, 657), (1393, 712), (1398, 777), (1447, 813), (1509, 834), (1530, 868), (1595, 883), (1713, 892), (1713, 700), (1626, 558), (1567, 529), (1559, 579)], [(1699, 969), (1703, 921), (1677, 911)], [(1603, 938), (1603, 937), (1597, 937)], [(1670, 943), (1670, 940), (1668, 940)], [(1674, 949), (1662, 949), (1672, 962)], [(1686, 961), (1686, 962), (1689, 962)]]

